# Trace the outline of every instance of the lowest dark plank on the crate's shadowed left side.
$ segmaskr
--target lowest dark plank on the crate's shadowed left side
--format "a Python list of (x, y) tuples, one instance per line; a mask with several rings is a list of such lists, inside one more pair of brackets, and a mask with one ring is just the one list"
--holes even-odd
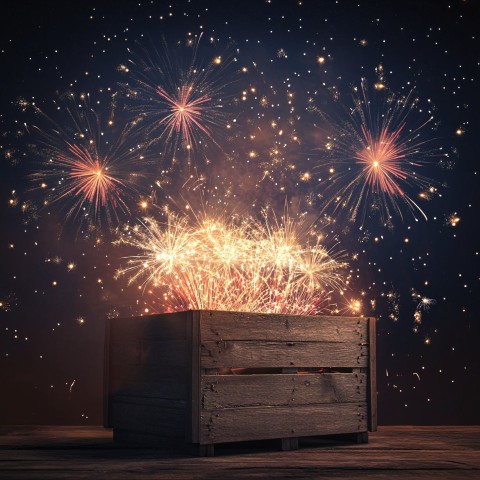
[(113, 429), (159, 437), (184, 438), (185, 408), (116, 401), (113, 403)]

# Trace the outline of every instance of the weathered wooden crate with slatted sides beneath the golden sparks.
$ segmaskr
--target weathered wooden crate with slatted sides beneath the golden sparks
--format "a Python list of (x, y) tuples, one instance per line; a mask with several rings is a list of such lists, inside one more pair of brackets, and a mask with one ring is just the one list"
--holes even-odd
[(114, 439), (223, 442), (376, 430), (375, 319), (187, 311), (107, 322)]

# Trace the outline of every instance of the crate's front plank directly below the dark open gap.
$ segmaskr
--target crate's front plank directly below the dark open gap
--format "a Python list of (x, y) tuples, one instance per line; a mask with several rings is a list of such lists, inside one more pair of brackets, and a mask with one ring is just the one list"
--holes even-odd
[(201, 392), (203, 410), (358, 403), (367, 398), (367, 375), (208, 375), (202, 377)]

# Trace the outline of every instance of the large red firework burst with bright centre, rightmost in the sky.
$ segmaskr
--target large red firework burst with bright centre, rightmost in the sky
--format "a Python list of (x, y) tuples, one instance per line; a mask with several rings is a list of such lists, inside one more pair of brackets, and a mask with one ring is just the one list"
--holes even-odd
[[(382, 83), (382, 85), (384, 85)], [(367, 214), (377, 212), (384, 223), (390, 223), (394, 214), (401, 219), (404, 210), (415, 219), (427, 215), (411, 191), (432, 191), (432, 181), (418, 173), (418, 169), (438, 156), (429, 149), (428, 127), (433, 116), (411, 127), (412, 111), (418, 112), (418, 98), (414, 92), (396, 96), (382, 92), (383, 104), (377, 107), (368, 96), (365, 80), (360, 92), (354, 90), (354, 108), (348, 121), (334, 134), (327, 135), (323, 148), (330, 162), (328, 185), (324, 188), (325, 212), (345, 212), (349, 220), (363, 224)], [(436, 189), (433, 189), (436, 191)]]

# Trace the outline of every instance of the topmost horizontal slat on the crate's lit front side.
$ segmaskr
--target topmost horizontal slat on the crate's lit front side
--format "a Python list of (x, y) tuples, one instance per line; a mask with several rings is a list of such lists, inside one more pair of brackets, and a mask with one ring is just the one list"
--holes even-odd
[(215, 340), (366, 343), (367, 319), (201, 311), (202, 342)]

